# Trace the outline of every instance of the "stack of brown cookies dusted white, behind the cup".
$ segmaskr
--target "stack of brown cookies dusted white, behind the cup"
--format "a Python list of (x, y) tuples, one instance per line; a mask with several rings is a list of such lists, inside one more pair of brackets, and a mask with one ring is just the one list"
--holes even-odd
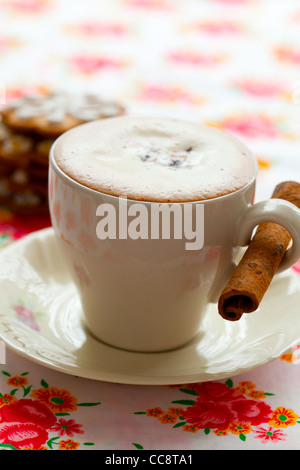
[(48, 211), (49, 150), (65, 131), (124, 114), (96, 95), (25, 96), (0, 112), (0, 204), (14, 213)]

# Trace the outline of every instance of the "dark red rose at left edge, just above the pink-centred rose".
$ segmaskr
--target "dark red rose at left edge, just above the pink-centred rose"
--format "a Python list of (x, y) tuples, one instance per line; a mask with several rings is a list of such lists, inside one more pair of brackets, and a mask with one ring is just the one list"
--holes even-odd
[(0, 409), (0, 423), (31, 423), (40, 428), (51, 428), (56, 417), (43, 403), (22, 398)]

